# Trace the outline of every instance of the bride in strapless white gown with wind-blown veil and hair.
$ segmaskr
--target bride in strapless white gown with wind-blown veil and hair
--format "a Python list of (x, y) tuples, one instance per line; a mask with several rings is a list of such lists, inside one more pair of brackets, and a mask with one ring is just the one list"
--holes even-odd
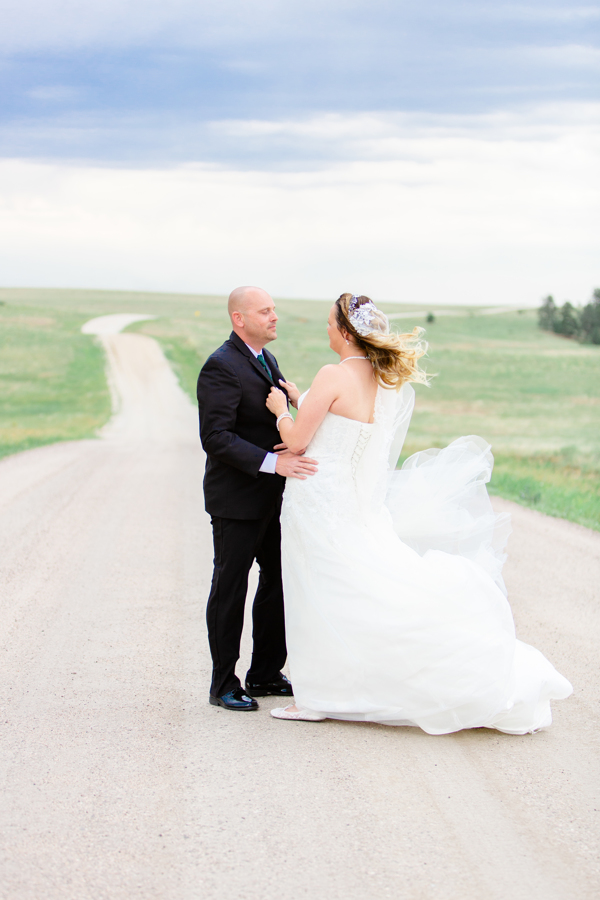
[(319, 460), (288, 479), (281, 513), (289, 665), (295, 706), (281, 719), (417, 725), (429, 734), (496, 728), (525, 734), (552, 721), (571, 685), (516, 640), (505, 597), (507, 516), (485, 483), (479, 437), (396, 462), (426, 383), (412, 335), (389, 333), (368, 297), (342, 294), (327, 330), (338, 365), (298, 397), (267, 406), (282, 440)]

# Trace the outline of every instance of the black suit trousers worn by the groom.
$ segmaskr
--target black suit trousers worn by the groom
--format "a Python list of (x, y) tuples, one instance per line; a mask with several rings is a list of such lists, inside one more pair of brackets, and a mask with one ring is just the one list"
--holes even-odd
[(255, 683), (269, 681), (285, 663), (281, 530), (278, 507), (262, 519), (213, 516), (211, 521), (215, 567), (206, 610), (213, 661), (210, 693), (222, 697), (240, 686), (235, 665), (240, 656), (248, 574), (255, 559), (260, 578), (252, 606), (254, 647), (246, 678)]

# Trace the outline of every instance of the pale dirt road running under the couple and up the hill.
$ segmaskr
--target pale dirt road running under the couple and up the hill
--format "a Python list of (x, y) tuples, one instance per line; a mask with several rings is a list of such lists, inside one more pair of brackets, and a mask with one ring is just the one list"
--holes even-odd
[(596, 900), (600, 534), (498, 501), (519, 635), (575, 688), (548, 731), (216, 709), (196, 414), (153, 341), (101, 339), (104, 438), (0, 464), (1, 896)]

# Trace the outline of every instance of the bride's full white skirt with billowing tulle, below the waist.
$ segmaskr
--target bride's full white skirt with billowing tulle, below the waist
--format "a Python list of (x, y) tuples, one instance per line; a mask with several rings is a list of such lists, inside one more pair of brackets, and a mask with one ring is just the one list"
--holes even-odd
[(480, 438), (417, 454), (370, 513), (327, 460), (288, 481), (282, 564), (298, 705), (429, 734), (550, 724), (550, 700), (572, 688), (515, 638), (501, 578), (509, 522), (485, 490), (491, 465)]

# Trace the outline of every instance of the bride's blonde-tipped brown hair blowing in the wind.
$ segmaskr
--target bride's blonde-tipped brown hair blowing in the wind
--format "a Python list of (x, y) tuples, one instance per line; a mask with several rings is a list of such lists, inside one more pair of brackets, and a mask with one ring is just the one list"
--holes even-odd
[[(352, 294), (342, 294), (335, 301), (335, 317), (340, 331), (346, 331), (363, 350), (373, 366), (375, 378), (382, 387), (394, 387), (400, 390), (407, 381), (417, 384), (429, 384), (429, 376), (419, 367), (419, 360), (427, 353), (427, 343), (421, 340), (423, 328), (414, 328), (410, 334), (389, 334), (385, 331), (372, 331), (361, 335), (350, 322), (350, 301)], [(369, 297), (360, 296), (355, 302), (355, 310), (363, 303), (372, 303)], [(355, 311), (353, 310), (353, 311)], [(387, 319), (378, 310), (377, 319)]]

